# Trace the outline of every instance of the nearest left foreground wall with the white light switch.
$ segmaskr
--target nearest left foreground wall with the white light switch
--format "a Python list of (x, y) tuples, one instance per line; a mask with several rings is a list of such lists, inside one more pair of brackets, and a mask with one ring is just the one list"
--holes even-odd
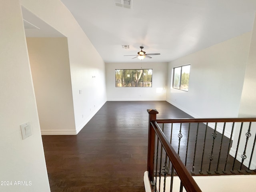
[[(1, 1), (0, 29), (0, 181), (12, 182), (0, 191), (50, 192), (19, 0)], [(22, 140), (26, 122), (32, 136)]]

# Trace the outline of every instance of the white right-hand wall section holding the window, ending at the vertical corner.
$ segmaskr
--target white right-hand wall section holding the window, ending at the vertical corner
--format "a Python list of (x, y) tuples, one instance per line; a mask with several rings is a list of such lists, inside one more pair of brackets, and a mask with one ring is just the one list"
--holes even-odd
[[(170, 62), (166, 100), (195, 118), (237, 117), (250, 39), (248, 32)], [(173, 67), (185, 64), (191, 64), (188, 92), (171, 88)]]

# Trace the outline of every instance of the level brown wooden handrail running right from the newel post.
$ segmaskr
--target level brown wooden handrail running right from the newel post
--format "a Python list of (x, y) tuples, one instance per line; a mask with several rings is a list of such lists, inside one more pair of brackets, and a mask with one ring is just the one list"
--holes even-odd
[(157, 123), (224, 123), (224, 122), (256, 122), (256, 118), (185, 118), (185, 119), (156, 119)]

